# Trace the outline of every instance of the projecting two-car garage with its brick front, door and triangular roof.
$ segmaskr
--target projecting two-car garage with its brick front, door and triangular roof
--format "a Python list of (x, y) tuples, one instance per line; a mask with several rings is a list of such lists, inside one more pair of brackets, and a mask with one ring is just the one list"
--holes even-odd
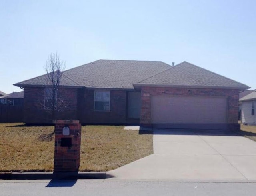
[(186, 61), (133, 84), (146, 126), (239, 130), (239, 92), (249, 87)]

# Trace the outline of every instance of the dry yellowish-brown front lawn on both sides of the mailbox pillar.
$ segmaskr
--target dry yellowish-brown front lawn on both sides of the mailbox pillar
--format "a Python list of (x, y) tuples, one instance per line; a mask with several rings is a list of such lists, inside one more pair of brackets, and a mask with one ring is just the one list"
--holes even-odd
[[(80, 171), (107, 171), (153, 153), (152, 133), (82, 126)], [(54, 126), (0, 124), (0, 172), (53, 171)]]

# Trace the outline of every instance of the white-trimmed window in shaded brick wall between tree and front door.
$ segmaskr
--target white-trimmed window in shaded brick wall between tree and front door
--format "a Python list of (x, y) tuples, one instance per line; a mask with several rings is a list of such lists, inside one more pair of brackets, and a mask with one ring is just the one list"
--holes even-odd
[(94, 91), (94, 111), (110, 111), (110, 91), (95, 90)]

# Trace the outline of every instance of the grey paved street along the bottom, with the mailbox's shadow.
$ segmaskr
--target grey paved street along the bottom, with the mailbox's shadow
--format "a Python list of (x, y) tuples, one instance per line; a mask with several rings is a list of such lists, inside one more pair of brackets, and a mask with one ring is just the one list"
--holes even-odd
[(256, 183), (0, 180), (1, 196), (255, 196)]

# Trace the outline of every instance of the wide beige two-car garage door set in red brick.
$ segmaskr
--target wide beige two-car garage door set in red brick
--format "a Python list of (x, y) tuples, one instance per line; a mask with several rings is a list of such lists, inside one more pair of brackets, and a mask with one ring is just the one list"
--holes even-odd
[(152, 123), (226, 123), (227, 99), (214, 97), (152, 96)]

